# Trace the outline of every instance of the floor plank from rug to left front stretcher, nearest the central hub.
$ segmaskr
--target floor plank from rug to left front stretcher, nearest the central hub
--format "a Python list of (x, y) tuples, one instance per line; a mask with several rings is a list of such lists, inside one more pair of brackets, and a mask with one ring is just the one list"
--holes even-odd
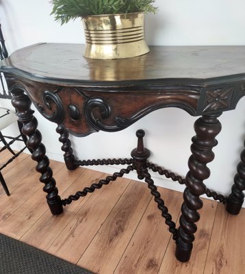
[(76, 264), (129, 182), (128, 179), (118, 178), (109, 186), (95, 190), (47, 251)]

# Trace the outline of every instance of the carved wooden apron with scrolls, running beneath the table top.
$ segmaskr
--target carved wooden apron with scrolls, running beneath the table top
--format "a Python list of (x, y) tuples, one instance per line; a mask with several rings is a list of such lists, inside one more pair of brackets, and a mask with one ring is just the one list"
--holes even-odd
[[(18, 83), (13, 82), (14, 86)], [(64, 125), (75, 136), (87, 136), (99, 130), (118, 132), (160, 108), (181, 108), (193, 116), (229, 110), (238, 99), (234, 95), (237, 84), (212, 84), (205, 88), (166, 84), (154, 84), (151, 88), (21, 84), (42, 116)], [(240, 92), (244, 92), (244, 82), (240, 85)]]

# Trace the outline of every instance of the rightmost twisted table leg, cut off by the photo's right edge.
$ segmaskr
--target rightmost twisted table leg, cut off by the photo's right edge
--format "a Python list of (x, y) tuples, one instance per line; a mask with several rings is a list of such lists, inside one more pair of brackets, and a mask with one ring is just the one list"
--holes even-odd
[(241, 153), (241, 162), (237, 164), (237, 174), (227, 202), (227, 212), (230, 214), (237, 215), (240, 212), (244, 202), (243, 190), (245, 190), (245, 149)]

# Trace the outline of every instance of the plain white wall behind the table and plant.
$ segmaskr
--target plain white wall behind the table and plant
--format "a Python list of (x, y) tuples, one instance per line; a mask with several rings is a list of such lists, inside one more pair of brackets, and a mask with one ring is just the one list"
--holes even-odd
[[(60, 27), (49, 16), (49, 0), (6, 0), (0, 8), (6, 44), (10, 53), (36, 42), (84, 42), (80, 21)], [(245, 45), (244, 0), (157, 0), (159, 12), (146, 16), (146, 40), (149, 45)], [(0, 1), (1, 3), (1, 1)], [(236, 164), (240, 160), (244, 140), (244, 102), (235, 111), (220, 117), (222, 132), (214, 149), (216, 159), (209, 164), (211, 177), (206, 184), (214, 190), (228, 193), (233, 184)], [(8, 102), (1, 102), (5, 104)], [(55, 142), (55, 125), (37, 114), (39, 129), (50, 158), (62, 160), (60, 144)], [(99, 132), (86, 138), (72, 138), (78, 158), (129, 157), (136, 147), (135, 132), (146, 131), (146, 147), (151, 149), (151, 161), (166, 166), (180, 175), (188, 171), (191, 137), (195, 117), (179, 109), (157, 110), (122, 132)], [(15, 130), (14, 127), (9, 129)], [(48, 136), (47, 133), (49, 132)], [(98, 167), (114, 172), (115, 167)], [(183, 190), (182, 186), (154, 175), (157, 184)], [(136, 175), (129, 177), (136, 179)]]

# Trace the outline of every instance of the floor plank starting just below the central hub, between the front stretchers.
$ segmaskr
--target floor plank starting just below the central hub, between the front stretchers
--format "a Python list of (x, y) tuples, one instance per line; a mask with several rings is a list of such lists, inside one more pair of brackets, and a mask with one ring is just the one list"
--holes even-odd
[(146, 184), (131, 181), (77, 264), (94, 273), (113, 273), (151, 199)]

